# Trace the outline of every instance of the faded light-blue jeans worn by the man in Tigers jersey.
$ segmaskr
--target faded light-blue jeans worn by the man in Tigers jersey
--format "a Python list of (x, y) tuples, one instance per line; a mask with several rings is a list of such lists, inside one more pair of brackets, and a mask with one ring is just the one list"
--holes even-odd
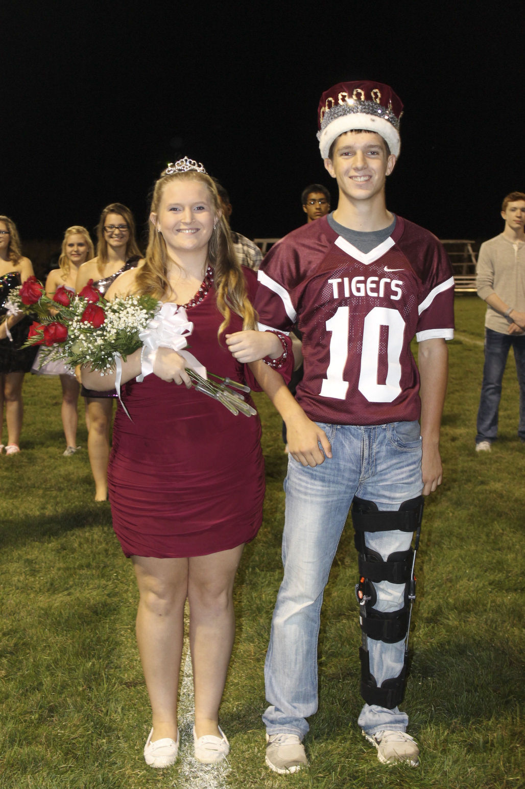
[[(269, 734), (287, 732), (303, 739), (305, 718), (318, 705), (317, 641), (322, 596), (337, 544), (354, 495), (374, 501), (379, 510), (399, 510), (423, 490), (418, 422), (371, 427), (320, 424), (333, 457), (306, 468), (289, 458), (285, 480), (286, 511), (282, 539), (285, 574), (277, 594), (264, 669), (263, 715)], [(367, 546), (383, 559), (406, 551), (411, 533), (397, 530), (366, 533)], [(374, 583), (378, 611), (404, 605), (404, 584)], [(353, 597), (352, 593), (350, 593)], [(356, 618), (357, 618), (356, 604)], [(404, 641), (386, 644), (368, 639), (370, 672), (378, 686), (397, 677), (404, 664)], [(399, 709), (364, 705), (359, 726), (370, 734), (382, 729), (405, 731), (408, 716)]]

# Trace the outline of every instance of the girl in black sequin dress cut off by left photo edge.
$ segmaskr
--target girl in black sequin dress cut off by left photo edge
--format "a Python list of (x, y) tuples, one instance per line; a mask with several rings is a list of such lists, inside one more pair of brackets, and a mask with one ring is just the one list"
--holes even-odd
[[(31, 260), (20, 252), (20, 238), (12, 219), (0, 216), (0, 320), (6, 314), (4, 304), (9, 292), (33, 275)], [(0, 453), (12, 455), (20, 452), (20, 431), (24, 404), (22, 384), (24, 373), (31, 369), (36, 347), (21, 348), (28, 337), (32, 320), (10, 316), (8, 319), (12, 340), (6, 336), (6, 322), (0, 327)], [(2, 444), (2, 426), (6, 411), (7, 444)]]

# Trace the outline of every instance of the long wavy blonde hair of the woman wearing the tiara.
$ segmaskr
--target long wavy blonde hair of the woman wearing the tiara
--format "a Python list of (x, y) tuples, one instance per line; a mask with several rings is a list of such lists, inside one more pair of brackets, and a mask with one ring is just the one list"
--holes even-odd
[[(158, 214), (164, 189), (169, 183), (176, 180), (202, 183), (210, 196), (215, 215), (220, 214), (208, 241), (208, 260), (214, 270), (217, 307), (224, 318), (218, 328), (218, 337), (220, 338), (229, 324), (231, 310), (243, 319), (243, 329), (254, 329), (257, 320), (255, 310), (248, 299), (242, 266), (233, 248), (228, 221), (222, 215), (221, 200), (210, 176), (195, 170), (162, 175), (155, 183), (150, 213)], [(167, 260), (166, 242), (155, 225), (150, 222), (145, 263), (136, 275), (138, 293), (150, 294), (158, 299), (162, 299), (165, 294), (169, 293)]]

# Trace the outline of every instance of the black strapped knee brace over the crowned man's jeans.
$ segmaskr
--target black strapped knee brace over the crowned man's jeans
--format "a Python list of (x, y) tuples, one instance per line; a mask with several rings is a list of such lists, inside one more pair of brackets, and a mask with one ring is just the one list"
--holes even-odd
[[(359, 649), (361, 660), (361, 695), (367, 704), (375, 704), (386, 709), (397, 707), (403, 697), (404, 679), (407, 670), (408, 631), (410, 629), (411, 606), (415, 600), (414, 562), (419, 546), (419, 533), (423, 517), (423, 496), (409, 499), (401, 504), (399, 510), (380, 512), (374, 502), (354, 498), (352, 522), (356, 549), (359, 552), (359, 584), (356, 584), (356, 597), (359, 603), (359, 623), (363, 634), (363, 645)], [(415, 547), (408, 551), (391, 553), (384, 561), (377, 552), (367, 547), (365, 532), (385, 532), (398, 529), (415, 532)], [(374, 585), (379, 581), (404, 584), (404, 605), (397, 611), (384, 613), (376, 611), (377, 602)], [(374, 676), (370, 674), (370, 656), (367, 639), (395, 644), (405, 639), (404, 666), (393, 679), (385, 679), (378, 688)]]

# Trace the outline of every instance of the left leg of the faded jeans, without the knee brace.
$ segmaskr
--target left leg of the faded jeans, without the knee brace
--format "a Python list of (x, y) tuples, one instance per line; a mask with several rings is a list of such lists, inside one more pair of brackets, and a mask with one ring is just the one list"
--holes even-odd
[(321, 424), (333, 457), (303, 467), (289, 459), (285, 480), (285, 569), (277, 594), (264, 676), (270, 707), (263, 715), (269, 735), (303, 739), (305, 720), (317, 711), (317, 641), (322, 595), (333, 556), (359, 482), (359, 428)]

